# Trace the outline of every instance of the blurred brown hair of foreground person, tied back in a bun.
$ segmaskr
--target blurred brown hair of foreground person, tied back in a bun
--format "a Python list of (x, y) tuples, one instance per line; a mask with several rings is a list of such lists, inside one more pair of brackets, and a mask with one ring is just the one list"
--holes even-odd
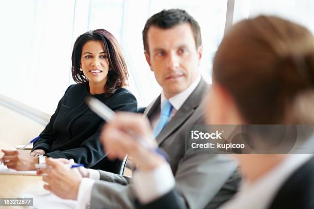
[[(213, 82), (230, 93), (246, 123), (304, 121), (313, 116), (313, 36), (279, 17), (242, 20), (222, 40), (213, 61)], [(310, 113), (300, 104), (307, 104)]]

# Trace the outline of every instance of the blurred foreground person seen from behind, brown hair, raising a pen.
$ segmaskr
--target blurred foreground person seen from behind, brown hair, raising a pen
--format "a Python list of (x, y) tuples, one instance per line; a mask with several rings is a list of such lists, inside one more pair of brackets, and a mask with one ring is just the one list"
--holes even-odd
[[(213, 62), (213, 82), (204, 107), (207, 124), (313, 124), (313, 104), (314, 41), (306, 28), (279, 17), (258, 16), (229, 30)], [(145, 199), (141, 190), (135, 190), (137, 206), (182, 208), (165, 159), (123, 130), (132, 130), (151, 143), (154, 138), (146, 120), (127, 113), (119, 114), (103, 130), (108, 157), (121, 159), (129, 154), (139, 164), (134, 184), (153, 193)], [(314, 208), (311, 154), (234, 157), (246, 181), (222, 208)], [(143, 182), (136, 172), (155, 175)], [(160, 191), (165, 184), (168, 190)], [(210, 185), (204, 182), (204, 186)], [(195, 195), (205, 194), (195, 191)]]

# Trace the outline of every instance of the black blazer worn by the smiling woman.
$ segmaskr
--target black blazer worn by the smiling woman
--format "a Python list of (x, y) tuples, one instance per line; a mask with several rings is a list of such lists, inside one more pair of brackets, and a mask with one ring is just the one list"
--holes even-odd
[[(138, 106), (133, 94), (123, 88), (105, 98), (104, 94), (89, 94), (85, 84), (71, 85), (32, 150), (42, 149), (49, 157), (72, 158), (77, 163), (83, 163), (86, 168), (116, 173), (119, 168), (111, 163), (119, 161), (110, 162), (104, 159), (106, 154), (99, 141), (105, 121), (88, 108), (85, 103), (86, 96), (100, 99), (113, 111), (136, 112)], [(100, 162), (102, 160), (103, 162)], [(115, 171), (112, 171), (111, 167)]]

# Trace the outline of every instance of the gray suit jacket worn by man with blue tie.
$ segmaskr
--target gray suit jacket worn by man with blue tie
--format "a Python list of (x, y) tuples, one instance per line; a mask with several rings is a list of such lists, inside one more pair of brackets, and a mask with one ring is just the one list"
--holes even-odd
[[(182, 107), (156, 138), (168, 155), (175, 177), (176, 201), (182, 208), (216, 208), (238, 189), (237, 164), (223, 156), (185, 155), (185, 130), (191, 124), (204, 124), (204, 97), (209, 85), (202, 79)], [(150, 119), (160, 111), (160, 96), (145, 110)], [(134, 208), (136, 201), (129, 178), (100, 171), (101, 181), (92, 188), (90, 208)], [(137, 205), (136, 205), (137, 206)]]

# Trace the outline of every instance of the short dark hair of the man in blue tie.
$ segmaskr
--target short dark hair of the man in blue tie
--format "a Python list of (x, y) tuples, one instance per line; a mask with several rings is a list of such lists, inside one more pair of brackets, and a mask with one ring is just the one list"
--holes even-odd
[(201, 28), (197, 20), (195, 20), (191, 15), (189, 15), (183, 9), (169, 9), (162, 10), (154, 15), (152, 15), (146, 22), (143, 29), (143, 45), (144, 50), (149, 53), (148, 42), (147, 42), (147, 32), (151, 26), (156, 26), (158, 28), (169, 29), (173, 28), (179, 24), (188, 23), (191, 26), (195, 46), (198, 48), (202, 45)]

